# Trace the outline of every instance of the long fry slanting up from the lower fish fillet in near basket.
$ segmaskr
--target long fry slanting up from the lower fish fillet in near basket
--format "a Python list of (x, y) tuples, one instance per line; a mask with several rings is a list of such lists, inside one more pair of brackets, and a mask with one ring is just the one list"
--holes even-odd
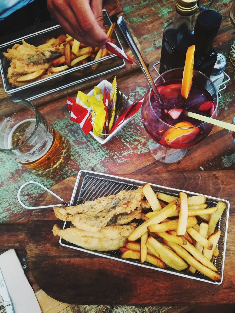
[(149, 218), (147, 221), (145, 221), (143, 224), (139, 225), (133, 233), (131, 233), (128, 236), (129, 241), (135, 241), (136, 239), (140, 238), (146, 231), (147, 227), (151, 224), (160, 223), (165, 218), (167, 218), (172, 212), (174, 212), (176, 209), (176, 205), (173, 204), (170, 207), (165, 207), (159, 211), (159, 214), (157, 216), (153, 216)]

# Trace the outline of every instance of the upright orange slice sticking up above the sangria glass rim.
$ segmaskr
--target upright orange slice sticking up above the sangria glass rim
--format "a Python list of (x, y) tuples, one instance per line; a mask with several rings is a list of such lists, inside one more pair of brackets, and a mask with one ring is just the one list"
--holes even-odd
[(187, 99), (190, 93), (193, 80), (193, 62), (194, 62), (195, 44), (188, 47), (185, 58), (185, 67), (182, 79), (181, 95)]

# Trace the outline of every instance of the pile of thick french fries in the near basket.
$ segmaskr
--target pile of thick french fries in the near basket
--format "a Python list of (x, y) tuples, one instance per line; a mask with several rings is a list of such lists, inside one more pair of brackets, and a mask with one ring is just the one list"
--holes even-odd
[[(148, 183), (143, 192), (147, 201), (143, 200), (142, 207), (151, 208), (152, 212), (142, 213), (144, 222), (129, 235), (125, 247), (120, 248), (121, 257), (160, 268), (187, 269), (192, 274), (198, 270), (214, 281), (221, 280), (213, 264), (219, 255), (216, 246), (221, 233), (215, 228), (226, 203), (219, 201), (216, 207), (207, 208), (203, 195), (187, 197), (180, 192), (179, 198), (173, 197), (155, 193)], [(203, 220), (200, 226), (196, 217)]]

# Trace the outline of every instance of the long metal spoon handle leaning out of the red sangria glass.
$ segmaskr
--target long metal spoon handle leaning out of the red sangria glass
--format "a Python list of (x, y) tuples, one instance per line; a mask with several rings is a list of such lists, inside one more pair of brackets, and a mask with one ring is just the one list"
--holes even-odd
[(160, 95), (159, 92), (157, 90), (157, 87), (154, 84), (154, 81), (152, 79), (152, 76), (149, 73), (149, 70), (144, 62), (144, 59), (142, 58), (141, 53), (139, 52), (139, 49), (132, 37), (132, 34), (123, 18), (123, 16), (119, 16), (117, 24), (123, 34), (123, 37), (126, 39), (126, 42), (128, 44), (128, 46), (130, 47), (134, 57), (136, 58), (140, 68), (142, 69), (145, 77), (147, 78), (149, 85), (151, 86), (155, 96), (157, 97), (157, 100), (159, 101), (159, 104), (161, 103), (161, 99), (160, 99)]

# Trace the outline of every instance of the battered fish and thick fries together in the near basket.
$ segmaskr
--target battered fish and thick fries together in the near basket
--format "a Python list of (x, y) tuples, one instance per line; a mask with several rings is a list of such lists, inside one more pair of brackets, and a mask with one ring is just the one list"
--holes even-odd
[[(151, 208), (152, 212), (145, 213)], [(197, 270), (219, 281), (221, 275), (214, 258), (219, 255), (221, 231), (215, 229), (225, 208), (226, 203), (219, 201), (208, 211), (205, 196), (188, 197), (180, 192), (178, 198), (155, 193), (147, 183), (134, 191), (124, 190), (77, 206), (54, 208), (55, 216), (71, 221), (72, 227), (61, 230), (55, 224), (53, 234), (85, 249), (119, 249), (123, 259), (138, 259), (192, 274)], [(209, 223), (199, 225), (197, 214), (203, 216), (203, 210)], [(142, 223), (137, 226), (134, 218), (142, 219)]]

